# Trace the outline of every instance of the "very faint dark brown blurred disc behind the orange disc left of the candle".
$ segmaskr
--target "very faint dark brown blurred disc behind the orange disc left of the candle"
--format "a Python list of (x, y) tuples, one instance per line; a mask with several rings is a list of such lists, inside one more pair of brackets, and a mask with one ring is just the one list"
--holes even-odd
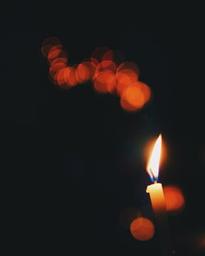
[(130, 230), (130, 224), (135, 218), (141, 216), (141, 213), (136, 208), (124, 208), (119, 214), (119, 222), (121, 226)]

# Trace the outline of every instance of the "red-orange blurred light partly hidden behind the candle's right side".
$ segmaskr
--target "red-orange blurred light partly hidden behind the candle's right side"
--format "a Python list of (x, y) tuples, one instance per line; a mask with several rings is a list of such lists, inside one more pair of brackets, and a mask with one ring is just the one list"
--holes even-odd
[(185, 205), (184, 195), (181, 190), (174, 185), (166, 185), (163, 187), (166, 200), (166, 210), (178, 213)]

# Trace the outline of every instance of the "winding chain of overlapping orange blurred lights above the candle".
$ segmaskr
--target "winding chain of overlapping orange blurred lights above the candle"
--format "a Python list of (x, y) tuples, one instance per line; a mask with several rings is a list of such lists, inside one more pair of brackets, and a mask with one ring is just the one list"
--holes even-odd
[(48, 60), (49, 78), (62, 89), (91, 81), (98, 93), (117, 94), (121, 107), (129, 112), (144, 107), (151, 98), (149, 86), (139, 81), (139, 67), (123, 62), (115, 50), (98, 47), (91, 57), (71, 65), (61, 40), (52, 37), (43, 41), (41, 52)]

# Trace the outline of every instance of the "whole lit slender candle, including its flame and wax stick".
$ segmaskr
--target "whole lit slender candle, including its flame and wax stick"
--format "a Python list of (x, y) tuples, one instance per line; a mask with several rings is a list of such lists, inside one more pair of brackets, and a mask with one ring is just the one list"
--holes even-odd
[(164, 193), (162, 190), (162, 184), (157, 183), (161, 148), (162, 135), (159, 135), (153, 146), (153, 152), (147, 165), (147, 171), (151, 180), (153, 181), (153, 184), (148, 185), (146, 192), (149, 193), (156, 219), (157, 235), (160, 243), (161, 253), (163, 256), (173, 256), (168, 220), (166, 216)]

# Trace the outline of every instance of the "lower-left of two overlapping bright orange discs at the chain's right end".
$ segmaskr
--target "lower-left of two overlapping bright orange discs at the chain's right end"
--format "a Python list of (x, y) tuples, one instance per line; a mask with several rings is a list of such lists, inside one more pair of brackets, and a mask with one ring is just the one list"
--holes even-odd
[(144, 107), (144, 93), (136, 86), (129, 86), (124, 89), (121, 97), (121, 107), (126, 111), (136, 111)]

